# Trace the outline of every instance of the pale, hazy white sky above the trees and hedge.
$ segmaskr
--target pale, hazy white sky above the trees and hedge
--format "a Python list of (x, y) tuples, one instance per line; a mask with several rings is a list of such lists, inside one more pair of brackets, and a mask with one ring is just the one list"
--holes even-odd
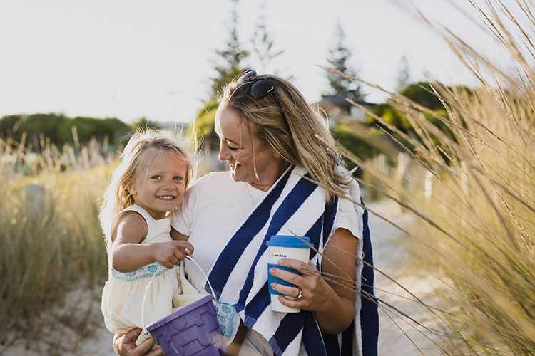
[[(505, 0), (504, 3), (514, 2)], [(360, 78), (394, 90), (402, 57), (413, 81), (472, 83), (452, 51), (414, 7), (489, 56), (501, 56), (468, 0), (270, 0), (238, 2), (245, 49), (264, 16), (274, 49), (259, 73), (277, 72), (315, 102), (340, 23)], [(413, 7), (414, 6), (414, 7)], [(461, 9), (462, 11), (459, 11)], [(68, 117), (141, 117), (191, 122), (208, 98), (230, 38), (230, 0), (0, 0), (0, 117), (37, 112)], [(469, 14), (469, 16), (467, 16)], [(505, 61), (507, 58), (505, 58)], [(364, 88), (366, 100), (384, 93)]]

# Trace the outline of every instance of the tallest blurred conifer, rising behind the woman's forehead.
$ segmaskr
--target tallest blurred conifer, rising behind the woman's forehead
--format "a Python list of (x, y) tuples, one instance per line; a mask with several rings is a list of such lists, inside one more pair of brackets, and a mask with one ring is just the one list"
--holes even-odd
[(223, 85), (229, 83), (231, 80), (238, 78), (245, 71), (243, 61), (249, 56), (249, 52), (242, 48), (238, 40), (238, 0), (233, 1), (233, 12), (231, 14), (230, 40), (227, 48), (223, 51), (216, 51), (215, 53), (223, 58), (223, 61), (215, 64), (214, 69), (218, 73), (212, 80), (210, 99), (217, 99), (223, 93)]

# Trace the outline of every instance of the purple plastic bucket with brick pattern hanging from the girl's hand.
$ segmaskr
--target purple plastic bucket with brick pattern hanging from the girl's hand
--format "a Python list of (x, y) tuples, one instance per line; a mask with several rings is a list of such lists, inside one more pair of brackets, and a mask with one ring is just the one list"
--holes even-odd
[(147, 326), (165, 355), (227, 354), (227, 345), (212, 300), (212, 295), (206, 295)]

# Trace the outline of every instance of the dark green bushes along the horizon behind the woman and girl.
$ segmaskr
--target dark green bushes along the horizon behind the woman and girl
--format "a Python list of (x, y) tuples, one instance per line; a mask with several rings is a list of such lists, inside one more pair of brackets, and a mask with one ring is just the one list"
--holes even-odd
[[(400, 95), (418, 103), (425, 108), (433, 110), (437, 115), (447, 117), (447, 112), (444, 105), (436, 95), (429, 92), (429, 83), (419, 82), (409, 85), (402, 90)], [(200, 139), (217, 139), (214, 132), (215, 112), (218, 108), (218, 100), (210, 99), (203, 103), (203, 108), (198, 110), (198, 115), (195, 118), (195, 132)], [(374, 115), (382, 117), (386, 122), (397, 127), (401, 132), (408, 135), (414, 133), (414, 127), (411, 122), (407, 120), (403, 110), (396, 108), (392, 103), (379, 103), (374, 105), (371, 110)], [(436, 116), (430, 115), (427, 112), (422, 113), (429, 122), (439, 127), (443, 132), (449, 132), (449, 129)], [(333, 135), (340, 142), (340, 145), (350, 150), (352, 153), (361, 157), (362, 159), (370, 158), (378, 153), (385, 153), (389, 155), (392, 147), (373, 147), (370, 150), (370, 144), (373, 140), (363, 140), (363, 133), (366, 135), (382, 135), (383, 138), (388, 136), (378, 127), (382, 127), (385, 131), (396, 135), (392, 130), (389, 130), (381, 122), (377, 122), (372, 115), (366, 115), (365, 122), (360, 123), (359, 132), (355, 132), (355, 128), (351, 127), (355, 122), (347, 123), (340, 122), (332, 125)], [(19, 142), (23, 145), (30, 145), (34, 152), (41, 152), (40, 137), (46, 137), (47, 140), (56, 147), (62, 147), (65, 144), (70, 145), (87, 145), (92, 139), (98, 142), (106, 141), (108, 147), (118, 147), (118, 145), (125, 145), (128, 142), (128, 137), (138, 127), (152, 127), (164, 128), (159, 122), (149, 122), (144, 117), (132, 124), (127, 124), (115, 117), (96, 118), (96, 117), (66, 117), (62, 114), (31, 114), (31, 115), (7, 115), (0, 118), (0, 137), (4, 140), (10, 139), (12, 142)], [(193, 127), (190, 127), (190, 130)], [(448, 135), (450, 135), (448, 133)], [(25, 142), (21, 142), (21, 140)], [(408, 144), (407, 144), (408, 145)], [(410, 145), (409, 145), (410, 146)]]

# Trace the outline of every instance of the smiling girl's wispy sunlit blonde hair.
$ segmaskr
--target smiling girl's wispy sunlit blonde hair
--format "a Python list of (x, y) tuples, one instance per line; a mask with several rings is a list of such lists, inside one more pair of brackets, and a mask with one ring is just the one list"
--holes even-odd
[(180, 142), (180, 138), (171, 132), (158, 132), (148, 128), (138, 130), (124, 148), (121, 162), (111, 173), (111, 182), (104, 192), (98, 219), (107, 237), (106, 242), (111, 234), (113, 218), (134, 204), (132, 195), (126, 189), (126, 182), (134, 177), (144, 159), (158, 159), (161, 154), (173, 155), (185, 164), (184, 182), (185, 189), (188, 189), (194, 178), (195, 162), (193, 155)]

